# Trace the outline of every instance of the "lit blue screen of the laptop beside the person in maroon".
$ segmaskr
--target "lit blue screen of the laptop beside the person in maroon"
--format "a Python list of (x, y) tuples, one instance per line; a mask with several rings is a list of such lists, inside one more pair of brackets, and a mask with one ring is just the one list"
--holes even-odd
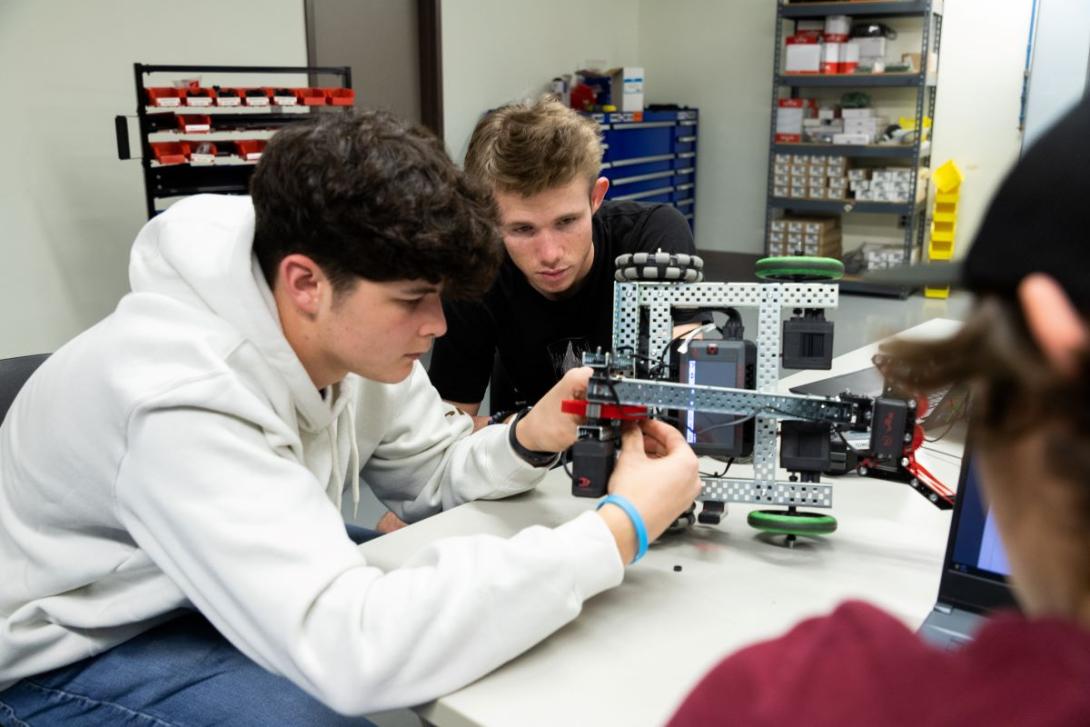
[(1000, 542), (995, 517), (984, 505), (977, 467), (971, 460), (962, 475), (960, 488), (965, 494), (953, 525), (950, 567), (972, 575), (1006, 578), (1010, 574), (1007, 554)]

